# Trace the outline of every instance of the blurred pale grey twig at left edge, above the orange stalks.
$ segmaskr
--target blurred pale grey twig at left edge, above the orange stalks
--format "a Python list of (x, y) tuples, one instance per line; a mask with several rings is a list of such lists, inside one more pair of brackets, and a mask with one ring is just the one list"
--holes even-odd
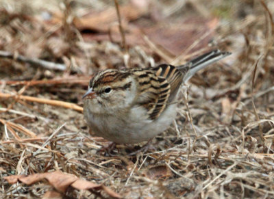
[(15, 59), (16, 61), (26, 62), (29, 64), (34, 64), (36, 66), (42, 66), (43, 68), (47, 68), (50, 70), (66, 70), (66, 65), (64, 64), (56, 64), (54, 62), (48, 62), (37, 58), (28, 58), (23, 55), (15, 55), (7, 51), (0, 51), (0, 57)]

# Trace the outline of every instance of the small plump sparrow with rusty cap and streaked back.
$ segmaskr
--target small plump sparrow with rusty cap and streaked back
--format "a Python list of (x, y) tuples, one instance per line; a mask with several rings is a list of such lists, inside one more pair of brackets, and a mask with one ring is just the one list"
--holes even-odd
[(96, 135), (119, 144), (150, 140), (175, 119), (181, 85), (227, 55), (215, 50), (177, 67), (162, 64), (98, 72), (83, 96), (88, 126)]

